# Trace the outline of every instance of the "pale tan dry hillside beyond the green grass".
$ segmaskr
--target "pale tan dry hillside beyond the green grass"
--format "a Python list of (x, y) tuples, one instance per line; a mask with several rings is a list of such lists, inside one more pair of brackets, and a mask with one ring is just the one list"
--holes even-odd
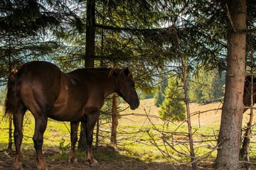
[[(127, 108), (128, 104), (120, 104), (120, 108)], [(191, 123), (198, 125), (208, 125), (208, 124), (220, 124), (220, 118), (221, 118), (221, 110), (217, 110), (218, 108), (222, 107), (222, 103), (220, 102), (214, 102), (214, 103), (208, 103), (205, 105), (200, 105), (197, 103), (191, 103), (190, 104), (190, 110), (191, 114), (194, 113), (200, 113), (193, 115), (191, 117)], [(154, 118), (151, 118), (151, 122), (155, 124), (161, 124), (163, 121), (159, 118), (159, 111), (160, 108), (156, 108), (154, 106), (154, 98), (149, 98), (140, 101), (140, 106), (135, 111), (132, 111), (131, 109), (127, 108), (125, 111), (122, 111), (120, 114), (125, 115), (124, 117), (119, 119), (119, 124), (127, 125), (127, 124), (137, 124), (142, 125), (143, 123), (149, 122), (146, 115), (153, 116)], [(243, 125), (246, 125), (247, 120), (249, 118), (248, 113), (250, 111), (246, 111), (244, 113), (243, 118)], [(253, 119), (256, 121), (256, 116), (254, 116)]]

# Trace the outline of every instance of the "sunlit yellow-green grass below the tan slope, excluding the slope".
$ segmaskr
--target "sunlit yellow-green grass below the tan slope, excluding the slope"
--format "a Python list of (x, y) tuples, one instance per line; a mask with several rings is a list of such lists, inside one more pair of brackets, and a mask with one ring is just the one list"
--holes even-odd
[[(134, 116), (134, 115), (133, 115)], [(145, 117), (138, 118), (144, 122)], [(107, 149), (102, 154), (95, 150), (95, 158), (99, 160), (123, 160), (126, 157), (132, 157), (144, 162), (189, 162), (190, 158), (183, 154), (189, 154), (188, 143), (188, 127), (186, 123), (180, 125), (179, 123), (169, 123), (163, 125), (162, 122), (154, 121), (151, 123), (136, 124), (137, 120), (132, 117), (133, 123), (120, 120), (117, 134), (117, 149)], [(30, 113), (26, 114), (23, 123), (23, 143), (21, 149), (33, 150), (33, 131), (34, 119)], [(6, 149), (8, 146), (8, 131), (9, 123), (0, 119), (0, 150)], [(210, 152), (216, 146), (218, 137), (219, 125), (216, 123), (206, 124), (201, 126), (193, 124), (193, 147), (196, 157), (207, 156), (206, 161), (214, 160), (217, 151)], [(100, 126), (100, 146), (110, 145), (110, 123)], [(175, 134), (174, 134), (175, 132)], [(255, 130), (252, 131), (255, 134)], [(166, 142), (163, 141), (163, 137)], [(255, 138), (253, 138), (255, 139)], [(256, 143), (251, 140), (251, 159), (256, 158)], [(95, 140), (94, 140), (95, 142)], [(155, 146), (157, 145), (157, 147)], [(171, 147), (173, 148), (171, 148)], [(56, 148), (58, 152), (50, 154), (49, 157), (54, 159), (68, 159), (68, 152), (70, 149), (70, 123), (58, 122), (55, 120), (48, 120), (48, 126), (44, 134), (44, 149)], [(14, 149), (14, 145), (13, 145)], [(176, 152), (176, 151), (180, 152)], [(209, 154), (207, 154), (210, 152)], [(78, 159), (83, 159), (85, 153), (77, 152)], [(25, 155), (29, 157), (29, 155)], [(34, 155), (31, 155), (34, 157)]]

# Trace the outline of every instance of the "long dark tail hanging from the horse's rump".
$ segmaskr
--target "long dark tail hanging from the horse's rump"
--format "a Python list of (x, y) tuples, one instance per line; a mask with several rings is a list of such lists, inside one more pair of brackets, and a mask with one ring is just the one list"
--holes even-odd
[(11, 71), (7, 82), (7, 94), (4, 103), (4, 117), (11, 118), (18, 110), (18, 104), (21, 102), (20, 84), (23, 79), (25, 67), (17, 67)]

